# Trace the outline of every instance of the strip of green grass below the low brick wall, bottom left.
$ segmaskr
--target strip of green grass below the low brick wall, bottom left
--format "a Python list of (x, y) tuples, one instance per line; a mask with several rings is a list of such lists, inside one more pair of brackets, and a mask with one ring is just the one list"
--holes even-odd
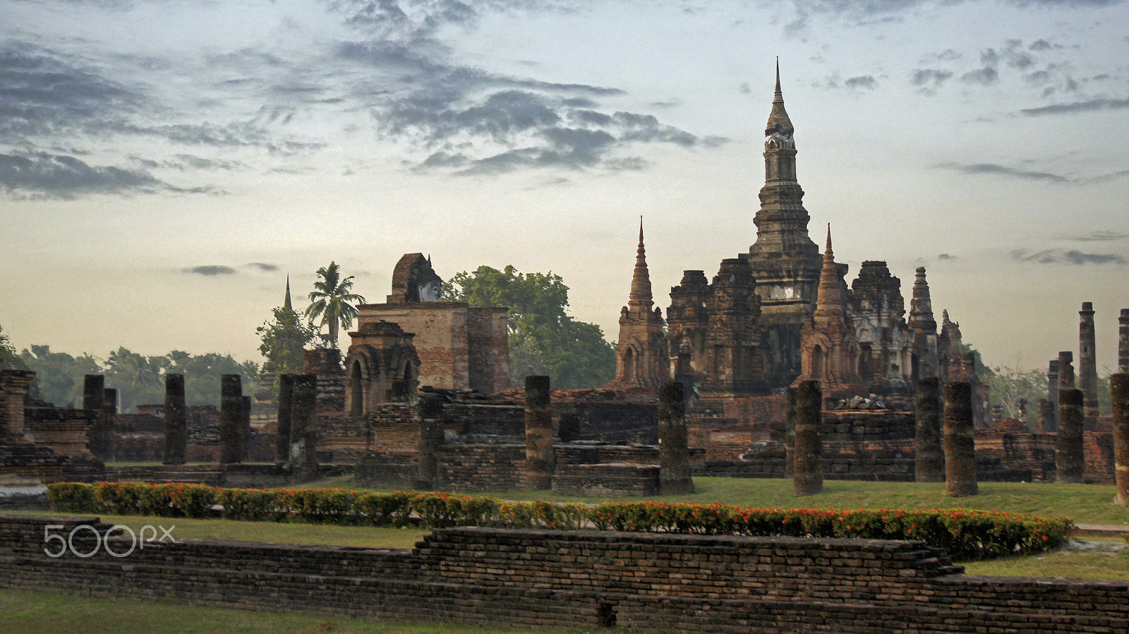
[[(0, 622), (5, 632), (44, 634), (229, 634), (275, 632), (367, 634), (485, 634), (493, 628), (469, 625), (362, 620), (196, 607), (151, 599), (75, 597), (56, 592), (0, 589)], [(581, 634), (583, 629), (506, 629), (514, 634)]]

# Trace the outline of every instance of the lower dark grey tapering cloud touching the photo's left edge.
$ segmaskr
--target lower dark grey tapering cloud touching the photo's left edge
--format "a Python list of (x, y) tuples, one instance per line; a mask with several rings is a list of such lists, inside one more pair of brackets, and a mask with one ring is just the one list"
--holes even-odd
[(0, 154), (0, 189), (16, 196), (59, 199), (90, 193), (212, 191), (209, 188), (175, 188), (143, 170), (91, 166), (73, 156), (50, 154)]

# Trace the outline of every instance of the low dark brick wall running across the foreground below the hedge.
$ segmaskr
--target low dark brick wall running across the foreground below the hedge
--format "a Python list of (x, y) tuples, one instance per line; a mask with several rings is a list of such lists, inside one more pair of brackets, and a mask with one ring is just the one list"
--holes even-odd
[[(155, 523), (175, 520), (155, 518)], [(265, 611), (680, 632), (1129, 631), (1129, 582), (961, 574), (918, 541), (440, 529), (413, 550), (217, 540), (52, 558), (46, 524), (0, 518), (0, 585)], [(94, 548), (79, 529), (80, 553)], [(129, 538), (112, 538), (125, 552)]]

